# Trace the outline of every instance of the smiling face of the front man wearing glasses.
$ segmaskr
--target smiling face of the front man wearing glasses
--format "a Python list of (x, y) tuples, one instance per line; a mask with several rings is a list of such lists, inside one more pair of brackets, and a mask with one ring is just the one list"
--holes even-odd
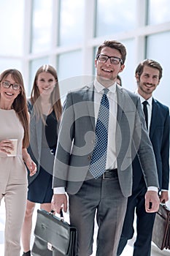
[[(122, 58), (119, 50), (110, 47), (102, 48), (100, 54), (104, 54), (109, 57), (114, 56), (120, 59)], [(97, 80), (105, 87), (109, 87), (115, 83), (118, 73), (122, 72), (125, 66), (120, 62), (119, 64), (112, 64), (110, 59), (108, 59), (105, 63), (96, 59), (95, 67), (97, 69)]]

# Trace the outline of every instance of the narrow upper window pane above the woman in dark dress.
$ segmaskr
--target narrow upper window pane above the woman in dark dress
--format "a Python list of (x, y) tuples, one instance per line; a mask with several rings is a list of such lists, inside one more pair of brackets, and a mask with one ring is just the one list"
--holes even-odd
[(31, 53), (49, 50), (52, 18), (52, 0), (33, 1)]

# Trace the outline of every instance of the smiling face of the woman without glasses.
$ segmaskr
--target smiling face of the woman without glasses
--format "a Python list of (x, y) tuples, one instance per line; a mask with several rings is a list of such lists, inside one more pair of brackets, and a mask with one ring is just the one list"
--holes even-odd
[(39, 88), (39, 94), (49, 95), (55, 87), (55, 77), (50, 72), (41, 72), (36, 80), (36, 86)]

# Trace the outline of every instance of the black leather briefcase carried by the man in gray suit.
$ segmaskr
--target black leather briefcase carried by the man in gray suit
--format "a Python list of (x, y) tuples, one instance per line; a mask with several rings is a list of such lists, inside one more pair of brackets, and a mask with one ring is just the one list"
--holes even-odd
[(77, 255), (77, 228), (53, 213), (37, 210), (34, 230), (34, 256), (75, 256)]

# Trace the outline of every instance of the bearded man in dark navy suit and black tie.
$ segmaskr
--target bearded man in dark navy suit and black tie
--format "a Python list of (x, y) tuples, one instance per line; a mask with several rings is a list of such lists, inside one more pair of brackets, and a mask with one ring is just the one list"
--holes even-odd
[[(169, 108), (152, 97), (162, 77), (161, 65), (153, 60), (142, 61), (136, 68), (136, 82), (141, 102), (147, 108), (146, 123), (158, 171), (160, 201), (169, 200)], [(145, 103), (144, 103), (145, 102)], [(144, 209), (144, 195), (147, 187), (136, 157), (133, 162), (133, 191), (128, 197), (128, 206), (123, 224), (123, 231), (118, 246), (117, 255), (121, 255), (128, 239), (134, 236), (134, 213), (136, 211), (136, 241), (134, 256), (150, 256), (152, 227), (155, 213), (148, 214)]]

